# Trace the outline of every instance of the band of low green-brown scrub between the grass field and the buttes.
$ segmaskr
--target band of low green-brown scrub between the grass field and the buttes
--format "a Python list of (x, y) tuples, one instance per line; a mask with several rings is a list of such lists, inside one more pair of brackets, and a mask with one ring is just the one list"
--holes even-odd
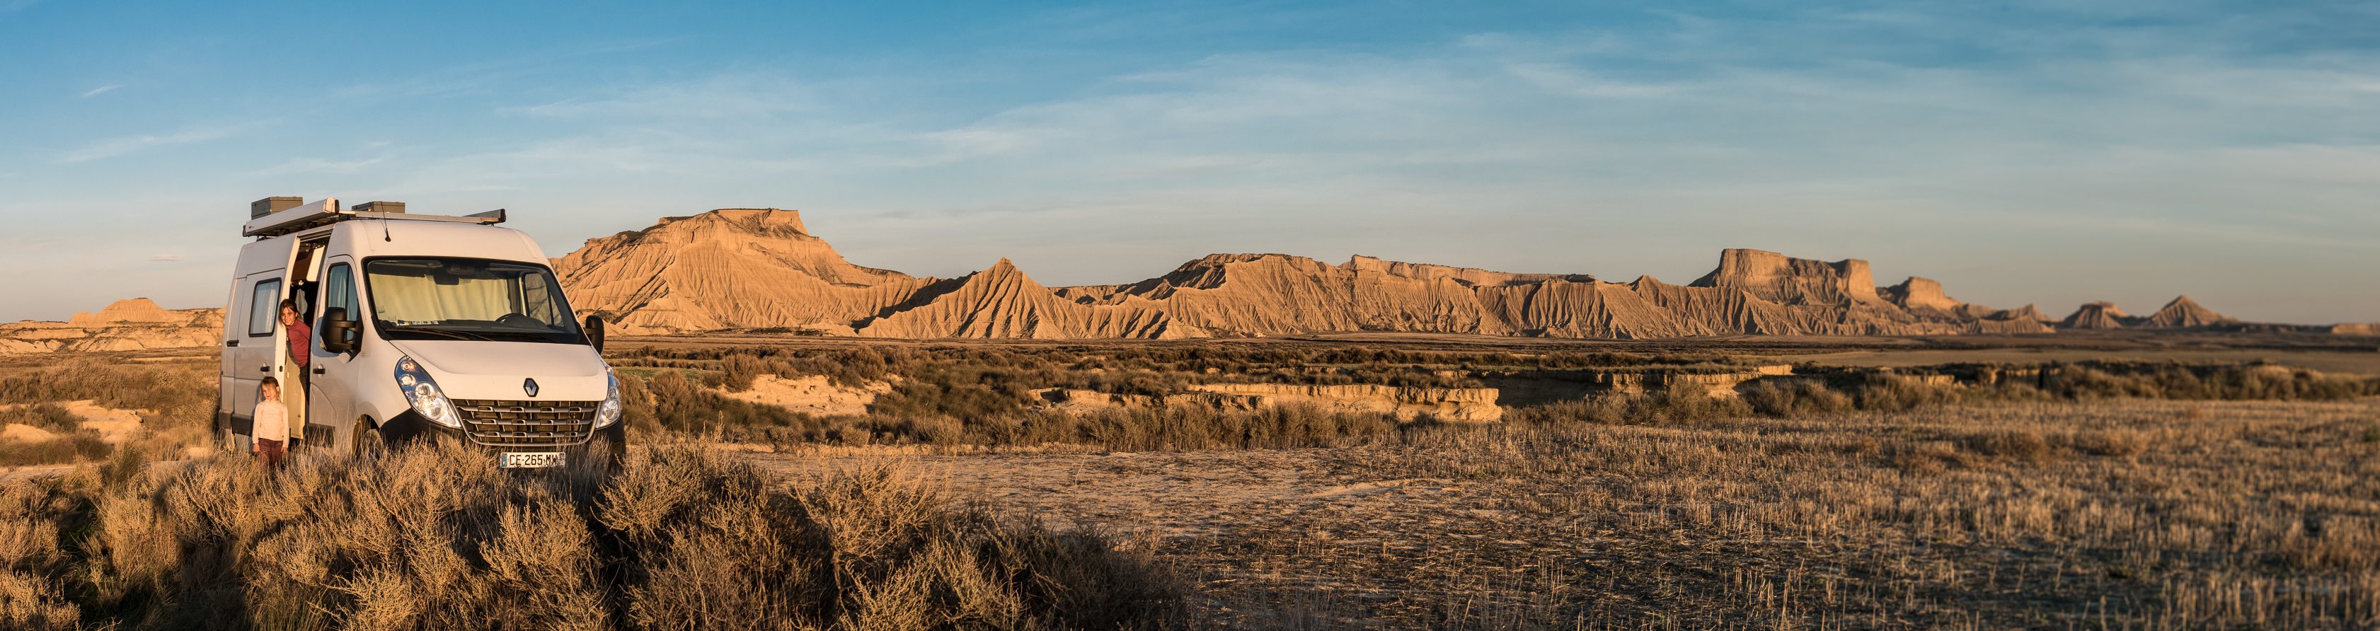
[[(1200, 383), (1383, 383), (1404, 388), (1480, 386), (1466, 369), (1535, 369), (1518, 379), (1583, 381), (1595, 374), (1704, 374), (1773, 364), (1771, 357), (1716, 352), (1442, 352), (1376, 348), (674, 348), (626, 350), (619, 364), (657, 369), (628, 379), (628, 424), (771, 445), (1038, 445), (1081, 443), (1119, 450), (1150, 445), (1269, 445), (1311, 438), (1219, 438), (1264, 426), (1257, 412), (1171, 410), (1069, 417), (1040, 412), (1050, 388), (1164, 398)], [(638, 369), (643, 371), (643, 369)], [(681, 371), (700, 371), (688, 379)], [(1940, 364), (1899, 371), (1804, 364), (1792, 381), (1754, 381), (1742, 398), (1692, 393), (1604, 395), (1542, 407), (1511, 407), (1523, 424), (1709, 424), (1764, 414), (1809, 417), (1849, 410), (1899, 412), (1975, 400), (2044, 398), (2340, 398), (2380, 393), (2380, 381), (2335, 379), (2266, 364), (2078, 362), (2047, 367)], [(762, 374), (828, 376), (838, 386), (890, 383), (864, 417), (797, 414), (731, 400), (716, 388), (747, 388)], [(1990, 374), (1990, 379), (1983, 379)], [(1966, 379), (1966, 383), (1949, 383)], [(1100, 412), (1107, 414), (1107, 412)], [(1154, 424), (1154, 426), (1128, 426)], [(1397, 426), (1390, 421), (1390, 426)], [(1195, 429), (1195, 431), (1192, 431)], [(1402, 429), (1399, 429), (1402, 431)], [(1295, 431), (1292, 431), (1295, 433)], [(1345, 433), (1333, 433), (1345, 436)], [(2061, 445), (2068, 450), (2085, 450)], [(2090, 452), (2090, 450), (2085, 450)]]

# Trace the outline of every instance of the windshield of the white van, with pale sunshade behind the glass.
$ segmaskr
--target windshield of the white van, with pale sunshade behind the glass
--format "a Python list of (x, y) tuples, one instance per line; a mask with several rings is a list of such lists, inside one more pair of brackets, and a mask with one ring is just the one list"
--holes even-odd
[(545, 267), (407, 257), (364, 262), (371, 319), (390, 341), (585, 343)]

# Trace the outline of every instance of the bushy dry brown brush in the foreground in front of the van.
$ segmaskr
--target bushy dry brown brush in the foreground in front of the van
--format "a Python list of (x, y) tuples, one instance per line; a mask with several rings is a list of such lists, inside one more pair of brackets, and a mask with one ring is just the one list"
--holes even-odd
[(895, 469), (783, 488), (690, 448), (616, 479), (483, 452), (138, 462), (0, 486), (0, 629), (1145, 629), (1145, 552)]

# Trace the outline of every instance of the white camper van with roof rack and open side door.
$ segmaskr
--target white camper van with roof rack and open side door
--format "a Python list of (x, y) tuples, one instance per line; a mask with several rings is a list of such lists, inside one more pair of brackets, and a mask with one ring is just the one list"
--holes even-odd
[[(602, 319), (581, 326), (545, 252), (502, 221), (257, 200), (224, 310), (221, 445), (248, 452), (274, 376), (290, 452), (426, 438), (486, 448), (500, 467), (616, 464), (626, 433)], [(281, 300), (312, 326), (300, 343)]]

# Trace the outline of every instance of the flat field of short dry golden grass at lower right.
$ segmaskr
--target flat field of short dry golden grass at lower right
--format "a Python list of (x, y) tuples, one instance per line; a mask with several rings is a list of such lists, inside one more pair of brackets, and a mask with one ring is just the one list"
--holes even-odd
[(1516, 424), (1338, 450), (1464, 512), (1169, 548), (1288, 626), (2370, 629), (2380, 400)]

